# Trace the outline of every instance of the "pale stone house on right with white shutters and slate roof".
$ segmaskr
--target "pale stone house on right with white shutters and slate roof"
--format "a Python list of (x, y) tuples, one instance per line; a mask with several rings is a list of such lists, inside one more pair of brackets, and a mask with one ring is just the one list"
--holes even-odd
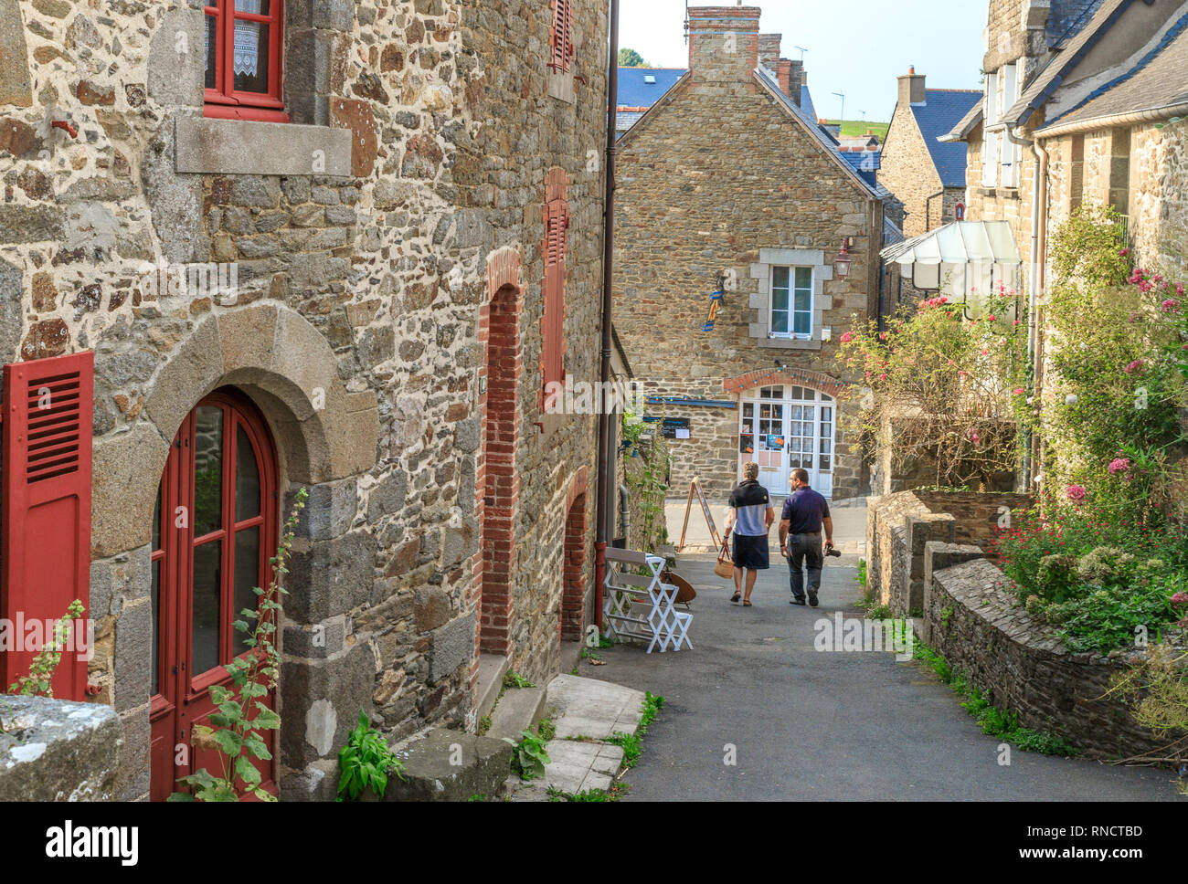
[[(967, 148), (967, 218), (1013, 240), (1018, 298), (1043, 304), (1049, 243), (1086, 203), (1124, 217), (1138, 266), (1188, 271), (1186, 31), (1183, 0), (991, 0), (985, 94), (942, 140)], [(1040, 396), (1050, 336), (1030, 316)], [(1040, 458), (1035, 437), (1026, 484)]]

